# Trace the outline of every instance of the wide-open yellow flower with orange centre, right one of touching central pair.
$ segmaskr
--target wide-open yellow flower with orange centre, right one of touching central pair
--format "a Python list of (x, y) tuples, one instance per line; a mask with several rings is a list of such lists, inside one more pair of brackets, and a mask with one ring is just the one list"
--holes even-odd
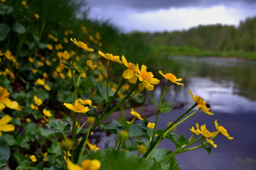
[(147, 90), (153, 90), (154, 85), (158, 85), (160, 83), (160, 80), (158, 80), (157, 78), (154, 78), (154, 75), (152, 74), (152, 72), (147, 72), (147, 66), (142, 65), (140, 70), (139, 65), (137, 64), (136, 70), (139, 74), (135, 74), (135, 75), (138, 76), (140, 81), (143, 81), (143, 86)]

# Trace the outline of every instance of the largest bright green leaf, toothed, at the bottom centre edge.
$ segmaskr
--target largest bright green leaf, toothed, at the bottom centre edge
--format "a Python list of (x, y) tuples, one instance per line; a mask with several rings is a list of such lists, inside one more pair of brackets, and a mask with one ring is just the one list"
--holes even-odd
[(132, 152), (116, 151), (115, 149), (104, 149), (97, 152), (89, 152), (84, 159), (100, 160), (101, 170), (160, 170), (153, 160), (138, 157)]

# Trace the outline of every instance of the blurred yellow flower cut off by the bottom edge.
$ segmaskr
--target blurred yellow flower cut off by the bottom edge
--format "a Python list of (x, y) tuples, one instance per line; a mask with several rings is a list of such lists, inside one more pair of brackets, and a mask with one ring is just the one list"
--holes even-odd
[[(82, 167), (81, 167), (82, 166)], [(68, 170), (98, 170), (101, 166), (98, 159), (84, 159), (81, 162), (81, 166), (73, 164), (69, 159), (67, 163)]]

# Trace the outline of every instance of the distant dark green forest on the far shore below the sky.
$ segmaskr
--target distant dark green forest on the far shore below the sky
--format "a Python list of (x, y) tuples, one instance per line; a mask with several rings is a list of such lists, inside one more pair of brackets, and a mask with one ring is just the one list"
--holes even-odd
[(173, 32), (133, 32), (153, 46), (188, 46), (215, 51), (256, 51), (256, 16), (240, 21), (239, 26), (199, 25)]

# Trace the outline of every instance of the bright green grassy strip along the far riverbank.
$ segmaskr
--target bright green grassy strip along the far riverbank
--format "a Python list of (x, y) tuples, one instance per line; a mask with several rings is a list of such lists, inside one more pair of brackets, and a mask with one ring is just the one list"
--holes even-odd
[(179, 46), (151, 46), (152, 52), (156, 55), (179, 55), (179, 56), (200, 56), (200, 57), (226, 57), (256, 60), (256, 52), (238, 51), (209, 51), (194, 47)]

